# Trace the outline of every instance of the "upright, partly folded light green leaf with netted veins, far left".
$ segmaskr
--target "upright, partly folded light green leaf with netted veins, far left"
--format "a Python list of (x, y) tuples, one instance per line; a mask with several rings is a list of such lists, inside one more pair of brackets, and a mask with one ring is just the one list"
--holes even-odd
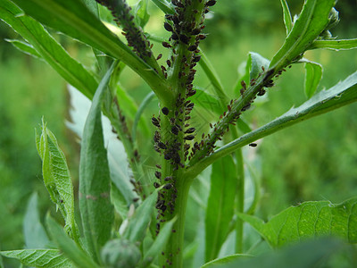
[(36, 133), (38, 155), (42, 159), (42, 175), (45, 186), (66, 222), (65, 230), (79, 243), (79, 229), (74, 216), (74, 196), (70, 170), (66, 158), (57, 144), (54, 133), (42, 120), (41, 135)]

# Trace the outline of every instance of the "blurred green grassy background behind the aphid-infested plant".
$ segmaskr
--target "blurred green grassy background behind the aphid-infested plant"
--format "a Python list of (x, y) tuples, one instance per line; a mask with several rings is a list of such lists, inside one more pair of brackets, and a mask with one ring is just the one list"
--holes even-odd
[[(135, 1), (132, 1), (135, 2)], [(228, 95), (238, 79), (238, 67), (253, 51), (271, 59), (285, 38), (278, 0), (218, 1), (206, 21), (209, 37), (202, 48), (220, 76)], [(287, 1), (292, 13), (298, 13), (303, 1)], [(340, 1), (336, 5), (341, 22), (332, 30), (338, 38), (357, 37), (357, 2)], [(167, 35), (162, 28), (163, 15), (150, 6), (152, 17), (147, 30)], [(41, 176), (41, 165), (34, 141), (34, 129), (45, 116), (62, 150), (71, 174), (78, 180), (79, 146), (76, 136), (67, 130), (69, 96), (66, 83), (46, 63), (22, 54), (5, 38), (18, 38), (0, 22), (0, 247), (23, 247), (22, 216), (29, 195), (40, 193), (40, 209), (49, 209), (49, 198)], [(93, 56), (87, 47), (56, 36), (71, 54), (87, 65)], [(162, 47), (154, 46), (155, 51)], [(157, 53), (158, 54), (158, 53)], [(305, 55), (323, 64), (321, 88), (329, 88), (357, 70), (357, 51), (311, 51)], [(122, 81), (137, 101), (148, 88), (132, 72)], [(198, 68), (197, 85), (211, 89), (210, 82)], [(269, 101), (256, 105), (245, 114), (253, 127), (261, 126), (293, 105), (300, 105), (303, 95), (303, 65), (295, 65), (270, 89)], [(152, 109), (157, 108), (153, 105)], [(255, 148), (262, 173), (262, 202), (258, 214), (267, 219), (289, 205), (306, 200), (330, 200), (338, 203), (357, 195), (357, 105), (311, 119), (282, 130), (260, 142)], [(54, 208), (52, 208), (54, 209)]]

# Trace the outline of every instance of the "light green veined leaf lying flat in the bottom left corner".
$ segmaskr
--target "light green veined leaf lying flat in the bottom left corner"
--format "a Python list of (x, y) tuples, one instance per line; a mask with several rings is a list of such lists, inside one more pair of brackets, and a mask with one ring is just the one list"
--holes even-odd
[(0, 251), (0, 255), (21, 261), (21, 264), (41, 268), (76, 268), (58, 249), (22, 249)]

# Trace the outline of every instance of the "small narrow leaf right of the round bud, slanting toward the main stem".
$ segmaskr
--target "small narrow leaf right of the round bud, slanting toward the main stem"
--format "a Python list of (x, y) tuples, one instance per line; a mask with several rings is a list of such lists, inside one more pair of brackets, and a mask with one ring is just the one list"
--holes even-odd
[(155, 257), (162, 253), (162, 249), (165, 247), (166, 243), (170, 239), (170, 234), (172, 233), (173, 223), (176, 222), (177, 218), (173, 218), (170, 222), (166, 222), (163, 228), (160, 230), (159, 235), (154, 240), (153, 245), (150, 249), (145, 252), (143, 262), (140, 267), (148, 267), (149, 264), (154, 262)]

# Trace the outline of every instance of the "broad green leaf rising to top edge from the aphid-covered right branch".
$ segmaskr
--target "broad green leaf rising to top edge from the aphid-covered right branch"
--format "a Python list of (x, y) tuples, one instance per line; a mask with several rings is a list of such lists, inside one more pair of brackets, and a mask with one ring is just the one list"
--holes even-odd
[(311, 43), (328, 26), (328, 14), (335, 0), (306, 0), (303, 11), (295, 21), (285, 43), (274, 55), (270, 69), (278, 71), (299, 59)]

